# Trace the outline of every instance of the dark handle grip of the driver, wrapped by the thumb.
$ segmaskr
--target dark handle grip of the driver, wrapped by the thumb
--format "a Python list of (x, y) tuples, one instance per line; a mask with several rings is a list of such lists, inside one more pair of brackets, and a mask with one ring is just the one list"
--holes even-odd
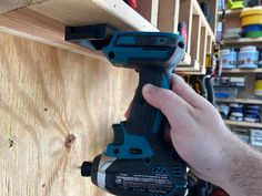
[(150, 83), (170, 89), (172, 68), (149, 68), (137, 70), (139, 72), (139, 85), (132, 101), (130, 116), (125, 123), (125, 131), (134, 135), (162, 134), (163, 114), (147, 103), (142, 95), (142, 87)]

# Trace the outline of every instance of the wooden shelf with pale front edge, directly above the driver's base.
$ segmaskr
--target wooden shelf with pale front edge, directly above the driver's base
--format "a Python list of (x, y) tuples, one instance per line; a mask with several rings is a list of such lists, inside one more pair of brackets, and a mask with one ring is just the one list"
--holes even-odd
[(0, 14), (2, 32), (105, 59), (100, 52), (64, 41), (66, 25), (93, 23), (110, 23), (121, 30), (159, 31), (122, 0), (48, 0)]

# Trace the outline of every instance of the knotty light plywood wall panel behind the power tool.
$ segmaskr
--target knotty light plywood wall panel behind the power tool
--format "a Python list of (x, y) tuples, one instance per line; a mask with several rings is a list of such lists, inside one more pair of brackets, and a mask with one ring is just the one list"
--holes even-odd
[(135, 85), (132, 70), (0, 34), (0, 195), (107, 195), (77, 167), (112, 140)]

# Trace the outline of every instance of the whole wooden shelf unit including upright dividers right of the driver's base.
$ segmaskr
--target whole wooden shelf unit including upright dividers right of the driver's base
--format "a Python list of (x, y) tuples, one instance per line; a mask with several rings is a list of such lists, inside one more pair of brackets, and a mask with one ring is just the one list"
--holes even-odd
[[(100, 52), (93, 52), (66, 42), (64, 27), (110, 23), (120, 30), (159, 31), (157, 27), (160, 27), (160, 22), (163, 22), (165, 25), (171, 25), (169, 28), (170, 32), (177, 32), (179, 19), (184, 21), (187, 17), (190, 17), (191, 23), (189, 23), (192, 27), (194, 25), (192, 18), (199, 17), (200, 28), (198, 29), (198, 38), (200, 41), (198, 41), (198, 47), (195, 47), (195, 51), (199, 51), (195, 52), (198, 58), (194, 58), (190, 50), (187, 51), (179, 68), (183, 70), (185, 66), (191, 66), (190, 71), (199, 71), (202, 74), (204, 69), (200, 66), (204, 66), (205, 54), (211, 51), (212, 43), (214, 42), (214, 33), (210, 24), (196, 0), (187, 0), (187, 3), (190, 4), (190, 11), (180, 11), (183, 10), (181, 8), (182, 4), (188, 8), (187, 3), (184, 3), (185, 1), (169, 0), (164, 2), (165, 4), (162, 4), (159, 0), (143, 1), (140, 4), (141, 7), (137, 9), (139, 12), (137, 12), (123, 0), (32, 0), (30, 3), (22, 0), (21, 3), (17, 4), (4, 1), (4, 9), (0, 9), (0, 31), (105, 60)], [(213, 0), (212, 4), (215, 6), (215, 2), (216, 0)], [(147, 3), (149, 8), (143, 9), (142, 7), (147, 6)], [(170, 9), (170, 16), (164, 18), (167, 9)], [(189, 16), (184, 17), (185, 12)], [(170, 20), (168, 24), (167, 20)], [(191, 37), (194, 37), (194, 33), (189, 33), (189, 45), (192, 44), (190, 42)]]

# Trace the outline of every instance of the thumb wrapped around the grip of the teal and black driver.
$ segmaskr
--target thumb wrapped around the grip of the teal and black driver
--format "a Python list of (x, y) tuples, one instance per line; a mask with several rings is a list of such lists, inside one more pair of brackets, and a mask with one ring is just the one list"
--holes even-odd
[(157, 87), (152, 84), (145, 84), (142, 89), (142, 94), (144, 100), (150, 105), (161, 110), (170, 123), (181, 114), (181, 111), (191, 110), (191, 105), (189, 105), (174, 92), (167, 89)]

